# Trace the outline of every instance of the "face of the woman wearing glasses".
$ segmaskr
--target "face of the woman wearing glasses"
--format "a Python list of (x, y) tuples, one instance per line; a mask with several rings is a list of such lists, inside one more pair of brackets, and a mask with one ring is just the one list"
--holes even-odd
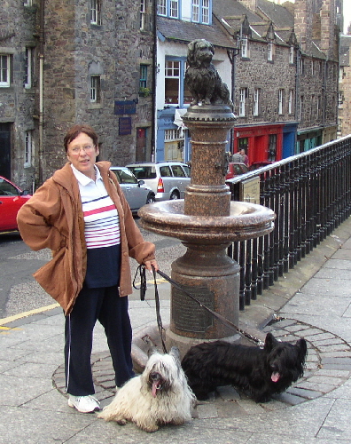
[(98, 147), (92, 139), (81, 132), (67, 146), (67, 159), (78, 171), (89, 178), (95, 178), (94, 163), (97, 160)]

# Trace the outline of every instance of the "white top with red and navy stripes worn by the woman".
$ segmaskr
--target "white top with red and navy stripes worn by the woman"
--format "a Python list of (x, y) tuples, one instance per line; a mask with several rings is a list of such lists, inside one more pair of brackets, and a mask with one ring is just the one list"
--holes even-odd
[(120, 244), (118, 212), (107, 194), (100, 171), (95, 167), (97, 178), (94, 182), (73, 165), (71, 166), (81, 193), (87, 248), (98, 249)]

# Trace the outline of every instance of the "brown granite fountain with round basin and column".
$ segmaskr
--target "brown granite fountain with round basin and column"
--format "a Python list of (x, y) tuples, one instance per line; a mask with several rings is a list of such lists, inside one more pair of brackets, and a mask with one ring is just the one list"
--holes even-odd
[[(185, 80), (190, 89), (195, 87), (191, 75)], [(208, 89), (214, 90), (205, 85), (201, 91)], [(176, 237), (187, 248), (172, 264), (172, 279), (203, 305), (238, 325), (239, 266), (227, 255), (227, 248), (230, 242), (268, 234), (275, 214), (261, 205), (230, 201), (225, 147), (235, 116), (229, 99), (213, 94), (208, 100), (201, 91), (191, 91), (197, 99), (183, 116), (191, 132), (191, 184), (185, 198), (146, 205), (139, 216), (145, 229)], [(167, 348), (176, 345), (183, 355), (191, 345), (218, 338), (233, 341), (238, 336), (172, 287)]]

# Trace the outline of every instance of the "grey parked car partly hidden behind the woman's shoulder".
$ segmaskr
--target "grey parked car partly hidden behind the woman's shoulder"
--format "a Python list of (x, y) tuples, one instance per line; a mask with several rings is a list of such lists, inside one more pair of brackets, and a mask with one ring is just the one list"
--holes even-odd
[(117, 176), (132, 213), (135, 214), (146, 203), (155, 202), (150, 186), (145, 185), (144, 180), (137, 180), (128, 168), (112, 166), (110, 170)]

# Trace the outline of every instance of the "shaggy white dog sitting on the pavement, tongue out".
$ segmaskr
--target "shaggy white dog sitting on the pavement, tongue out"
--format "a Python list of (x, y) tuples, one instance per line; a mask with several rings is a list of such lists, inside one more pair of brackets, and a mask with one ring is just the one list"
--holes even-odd
[(120, 425), (131, 421), (145, 432), (156, 432), (160, 424), (190, 421), (195, 400), (179, 351), (172, 347), (169, 354), (152, 353), (143, 374), (129, 379), (98, 417)]

